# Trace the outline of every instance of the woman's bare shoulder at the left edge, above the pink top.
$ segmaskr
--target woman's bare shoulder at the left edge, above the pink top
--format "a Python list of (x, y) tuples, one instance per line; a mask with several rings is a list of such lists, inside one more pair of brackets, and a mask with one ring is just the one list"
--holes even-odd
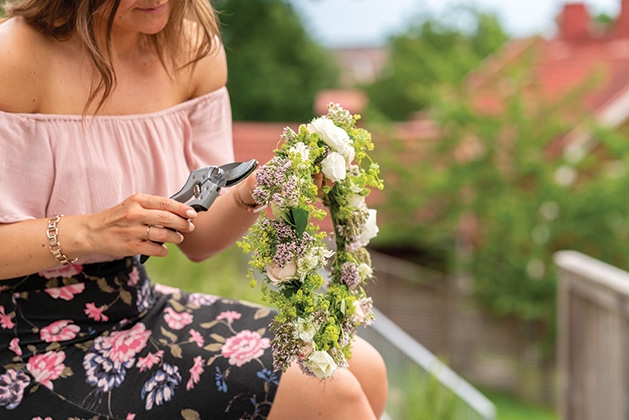
[(46, 37), (21, 18), (0, 23), (0, 110), (35, 112), (45, 81)]

